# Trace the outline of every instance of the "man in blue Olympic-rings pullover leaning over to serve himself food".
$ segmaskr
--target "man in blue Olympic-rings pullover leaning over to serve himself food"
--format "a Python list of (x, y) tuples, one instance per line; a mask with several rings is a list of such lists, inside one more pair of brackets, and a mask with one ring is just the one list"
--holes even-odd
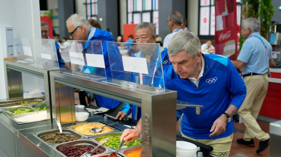
[[(213, 147), (214, 155), (229, 156), (234, 132), (231, 117), (246, 96), (242, 78), (229, 58), (202, 54), (200, 40), (192, 32), (175, 34), (168, 54), (173, 66), (164, 71), (159, 86), (176, 90), (178, 100), (204, 106), (200, 115), (195, 108), (181, 110), (182, 136)], [(124, 130), (121, 140), (130, 141), (140, 133), (138, 122), (135, 129)]]

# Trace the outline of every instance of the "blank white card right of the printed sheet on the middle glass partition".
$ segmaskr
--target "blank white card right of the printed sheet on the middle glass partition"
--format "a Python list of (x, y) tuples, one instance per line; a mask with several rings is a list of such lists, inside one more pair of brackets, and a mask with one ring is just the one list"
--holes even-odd
[(86, 60), (88, 66), (105, 68), (104, 55), (102, 54), (86, 54)]

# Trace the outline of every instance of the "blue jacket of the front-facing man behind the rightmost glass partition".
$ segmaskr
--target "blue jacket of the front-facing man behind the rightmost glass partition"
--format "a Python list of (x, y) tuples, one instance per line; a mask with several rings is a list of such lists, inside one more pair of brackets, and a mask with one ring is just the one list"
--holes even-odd
[[(172, 65), (170, 60), (169, 60), (168, 49), (163, 48), (163, 47), (160, 47), (159, 49), (160, 49), (159, 51), (160, 51), (160, 54), (161, 54), (161, 60), (160, 59), (158, 60), (155, 75), (154, 75), (154, 78), (153, 78), (153, 86), (154, 87), (159, 87), (159, 81), (162, 77), (162, 71), (165, 70), (170, 65)], [(143, 54), (143, 52), (137, 52), (134, 55), (132, 55), (132, 57), (144, 57), (144, 54)], [(150, 64), (147, 63), (148, 75), (143, 75), (143, 84), (144, 85), (151, 85), (151, 83), (152, 83), (152, 77), (151, 76), (153, 75), (153, 72), (154, 72), (154, 68), (155, 68), (155, 65), (156, 65), (155, 62), (156, 62), (157, 57), (158, 57), (158, 49), (156, 49), (155, 52), (151, 55)], [(162, 62), (163, 70), (160, 66), (161, 62)], [(134, 80), (134, 82), (135, 82), (135, 80)], [(139, 83), (139, 82), (136, 82), (136, 83)], [(135, 119), (135, 120), (139, 120), (141, 118), (141, 108), (137, 107), (135, 105), (130, 105), (128, 103), (125, 103), (123, 108), (122, 108), (122, 111), (127, 113), (128, 115), (132, 112), (132, 118)]]

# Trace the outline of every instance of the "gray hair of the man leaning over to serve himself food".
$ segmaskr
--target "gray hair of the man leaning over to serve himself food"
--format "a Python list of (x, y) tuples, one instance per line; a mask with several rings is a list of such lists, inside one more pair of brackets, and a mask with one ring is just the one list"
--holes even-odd
[(168, 45), (169, 56), (182, 51), (185, 51), (193, 59), (196, 57), (197, 53), (201, 51), (200, 40), (193, 32), (178, 32), (170, 41)]

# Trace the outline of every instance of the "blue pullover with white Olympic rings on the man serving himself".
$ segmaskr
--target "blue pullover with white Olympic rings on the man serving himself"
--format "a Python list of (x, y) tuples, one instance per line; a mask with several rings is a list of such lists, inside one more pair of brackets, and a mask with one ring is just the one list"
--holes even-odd
[(196, 139), (224, 138), (233, 133), (233, 120), (218, 136), (209, 137), (211, 127), (230, 104), (240, 108), (246, 97), (246, 86), (229, 58), (216, 54), (202, 55), (206, 64), (198, 88), (188, 78), (181, 79), (173, 66), (164, 71), (164, 80), (160, 80), (160, 85), (176, 90), (177, 100), (204, 106), (200, 115), (196, 114), (195, 108), (180, 110), (184, 114), (181, 130), (184, 135)]

